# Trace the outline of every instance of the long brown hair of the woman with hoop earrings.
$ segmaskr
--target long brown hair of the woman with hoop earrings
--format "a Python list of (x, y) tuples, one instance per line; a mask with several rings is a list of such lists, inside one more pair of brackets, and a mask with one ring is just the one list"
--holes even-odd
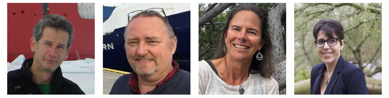
[[(274, 66), (275, 59), (274, 59), (274, 54), (273, 54), (272, 40), (270, 37), (270, 33), (267, 32), (268, 14), (265, 10), (258, 7), (258, 5), (242, 4), (242, 5), (238, 5), (237, 7), (235, 7), (232, 10), (230, 16), (228, 16), (226, 25), (224, 25), (223, 30), (221, 30), (221, 35), (220, 35), (220, 39), (219, 39), (219, 47), (217, 48), (216, 54), (215, 54), (213, 59), (219, 59), (219, 58), (226, 56), (226, 53), (224, 53), (224, 50), (223, 50), (224, 44), (225, 44), (224, 43), (224, 35), (227, 35), (227, 30), (229, 28), (232, 17), (234, 17), (235, 13), (242, 11), (242, 10), (251, 11), (251, 12), (254, 12), (255, 14), (258, 15), (258, 17), (260, 19), (260, 23), (261, 23), (261, 30), (262, 30), (261, 31), (261, 37), (262, 37), (261, 39), (262, 40), (260, 40), (260, 41), (265, 42), (265, 44), (263, 45), (263, 47), (260, 50), (260, 53), (262, 54), (263, 59), (261, 61), (258, 61), (258, 59), (256, 58), (256, 54), (254, 54), (252, 56), (252, 60), (251, 60), (250, 72), (251, 73), (261, 73), (261, 75), (263, 77), (270, 78), (270, 76), (274, 72), (273, 66)], [(258, 51), (257, 51), (257, 53), (258, 53)], [(252, 72), (252, 70), (254, 72)]]

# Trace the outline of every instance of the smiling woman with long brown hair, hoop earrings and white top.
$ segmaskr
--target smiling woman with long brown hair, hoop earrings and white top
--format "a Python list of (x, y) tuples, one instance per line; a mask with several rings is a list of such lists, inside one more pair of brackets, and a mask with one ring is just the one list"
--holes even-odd
[(235, 7), (211, 61), (199, 61), (199, 94), (278, 94), (267, 13), (253, 4)]

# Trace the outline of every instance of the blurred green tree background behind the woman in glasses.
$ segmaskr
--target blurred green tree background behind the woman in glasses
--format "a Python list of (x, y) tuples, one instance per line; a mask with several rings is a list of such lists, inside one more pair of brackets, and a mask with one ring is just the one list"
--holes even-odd
[(310, 71), (322, 63), (312, 34), (320, 19), (339, 21), (344, 29), (341, 55), (361, 68), (368, 94), (381, 94), (382, 72), (381, 3), (295, 3), (294, 82), (295, 94), (310, 94)]

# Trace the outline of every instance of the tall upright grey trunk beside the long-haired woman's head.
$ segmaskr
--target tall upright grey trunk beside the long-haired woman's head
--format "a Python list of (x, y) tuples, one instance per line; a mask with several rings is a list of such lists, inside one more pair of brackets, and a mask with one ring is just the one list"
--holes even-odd
[(273, 51), (275, 53), (275, 63), (280, 63), (286, 59), (285, 45), (282, 37), (282, 17), (286, 14), (286, 4), (278, 3), (269, 12), (268, 24), (272, 37)]

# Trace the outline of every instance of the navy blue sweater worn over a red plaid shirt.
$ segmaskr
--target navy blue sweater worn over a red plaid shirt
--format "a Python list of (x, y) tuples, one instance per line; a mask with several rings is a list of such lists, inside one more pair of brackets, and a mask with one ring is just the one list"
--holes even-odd
[[(191, 79), (190, 73), (181, 70), (174, 75), (170, 80), (162, 84), (162, 86), (145, 94), (191, 94)], [(131, 74), (122, 75), (119, 77), (114, 86), (112, 86), (109, 94), (133, 94), (128, 82), (130, 82)]]

